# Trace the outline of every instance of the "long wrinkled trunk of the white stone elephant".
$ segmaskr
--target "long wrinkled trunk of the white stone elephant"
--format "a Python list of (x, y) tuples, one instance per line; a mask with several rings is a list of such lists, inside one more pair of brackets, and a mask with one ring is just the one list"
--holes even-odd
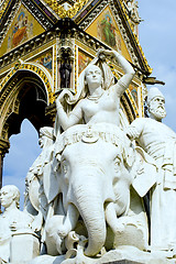
[(84, 183), (81, 184), (80, 180), (76, 186), (76, 207), (88, 231), (88, 246), (85, 250), (85, 254), (94, 256), (105, 245), (107, 235), (102, 188), (100, 187), (100, 180), (103, 180), (103, 177), (101, 176), (100, 179), (95, 174), (85, 175), (84, 172), (80, 178)]

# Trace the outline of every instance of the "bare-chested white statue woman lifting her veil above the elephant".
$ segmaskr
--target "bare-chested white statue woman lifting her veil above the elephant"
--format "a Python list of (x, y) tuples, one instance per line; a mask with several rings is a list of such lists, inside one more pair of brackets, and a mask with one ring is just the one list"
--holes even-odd
[[(102, 70), (100, 67), (95, 65), (95, 63), (99, 58), (101, 59), (102, 56), (103, 59), (105, 56), (113, 56), (121, 65), (124, 75), (117, 84), (113, 84), (113, 77), (109, 78), (108, 75), (110, 75), (110, 69), (108, 73), (107, 65), (103, 62), (101, 64)], [(67, 102), (73, 103), (72, 95), (67, 90), (63, 90), (56, 100), (58, 123), (63, 130), (80, 123), (81, 120), (84, 120), (84, 123), (89, 124), (108, 122), (119, 125), (120, 97), (129, 87), (133, 76), (133, 67), (118, 52), (99, 51), (98, 58), (94, 59), (79, 77), (79, 87), (77, 94), (78, 96), (80, 94), (81, 98), (82, 94), (86, 94), (87, 89), (87, 96), (78, 101), (69, 116), (67, 116), (65, 112), (62, 101), (64, 100), (64, 97), (66, 97)], [(107, 78), (109, 78), (108, 87), (106, 87)], [(80, 88), (80, 86), (82, 87)]]

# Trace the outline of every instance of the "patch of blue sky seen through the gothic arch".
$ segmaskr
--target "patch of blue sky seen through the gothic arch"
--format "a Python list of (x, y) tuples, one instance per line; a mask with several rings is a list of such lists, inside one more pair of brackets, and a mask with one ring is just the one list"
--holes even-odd
[(38, 135), (34, 127), (24, 120), (21, 125), (21, 133), (10, 138), (10, 152), (6, 154), (3, 162), (2, 185), (15, 185), (21, 193), (21, 209), (25, 187), (25, 176), (35, 158), (41, 153)]

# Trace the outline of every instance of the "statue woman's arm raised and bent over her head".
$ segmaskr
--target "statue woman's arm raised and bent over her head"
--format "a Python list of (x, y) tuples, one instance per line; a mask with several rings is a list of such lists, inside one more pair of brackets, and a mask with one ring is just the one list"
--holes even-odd
[(132, 81), (135, 75), (135, 72), (131, 66), (131, 64), (120, 53), (116, 51), (103, 50), (103, 51), (100, 51), (98, 55), (100, 55), (101, 53), (105, 54), (106, 56), (114, 57), (124, 72), (124, 75), (120, 78), (118, 84), (114, 85), (114, 87), (117, 88), (118, 95), (121, 97), (125, 91), (125, 89), (129, 87), (130, 82)]

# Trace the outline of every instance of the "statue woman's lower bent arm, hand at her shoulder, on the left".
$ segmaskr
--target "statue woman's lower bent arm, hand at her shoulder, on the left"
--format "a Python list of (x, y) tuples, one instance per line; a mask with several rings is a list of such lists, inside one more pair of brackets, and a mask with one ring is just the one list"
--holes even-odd
[(65, 92), (62, 92), (56, 99), (56, 110), (57, 110), (58, 122), (63, 128), (63, 130), (66, 130), (79, 123), (79, 121), (82, 118), (82, 111), (81, 111), (80, 102), (78, 102), (77, 106), (73, 109), (73, 111), (69, 114), (67, 114), (63, 108), (63, 105), (61, 103), (64, 96), (65, 96)]

